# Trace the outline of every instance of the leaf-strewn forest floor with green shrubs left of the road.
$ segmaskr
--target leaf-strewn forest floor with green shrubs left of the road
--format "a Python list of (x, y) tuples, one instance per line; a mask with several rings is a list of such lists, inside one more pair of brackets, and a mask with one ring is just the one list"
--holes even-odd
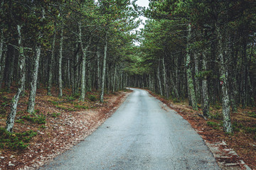
[(98, 91), (87, 92), (82, 102), (71, 96), (69, 89), (63, 91), (63, 98), (58, 98), (56, 91), (46, 96), (46, 89), (38, 89), (36, 112), (26, 112), (26, 94), (18, 103), (14, 133), (8, 135), (4, 127), (14, 94), (15, 89), (0, 92), (0, 170), (37, 169), (95, 131), (129, 92), (107, 94), (105, 102), (99, 103)]

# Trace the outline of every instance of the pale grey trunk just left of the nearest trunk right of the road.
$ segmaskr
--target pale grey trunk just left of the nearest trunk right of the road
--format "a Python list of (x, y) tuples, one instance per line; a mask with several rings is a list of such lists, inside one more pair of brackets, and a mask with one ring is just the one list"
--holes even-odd
[(206, 50), (203, 50), (203, 60), (202, 60), (202, 71), (205, 73), (203, 75), (202, 80), (202, 92), (203, 92), (203, 115), (209, 117), (209, 95), (208, 95), (208, 82), (207, 82), (207, 57), (206, 57)]

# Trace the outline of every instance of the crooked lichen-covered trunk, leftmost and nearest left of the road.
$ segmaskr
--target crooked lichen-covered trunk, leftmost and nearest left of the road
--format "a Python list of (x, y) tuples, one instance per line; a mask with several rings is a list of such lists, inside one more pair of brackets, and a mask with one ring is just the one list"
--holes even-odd
[(21, 96), (22, 88), (23, 88), (23, 77), (25, 77), (24, 72), (24, 63), (25, 63), (25, 56), (23, 52), (23, 46), (21, 45), (21, 26), (17, 26), (18, 30), (18, 91), (16, 92), (14, 98), (11, 100), (11, 112), (9, 113), (7, 120), (6, 120), (6, 130), (11, 132), (14, 128), (14, 120), (16, 116), (16, 110), (18, 106), (18, 100)]

